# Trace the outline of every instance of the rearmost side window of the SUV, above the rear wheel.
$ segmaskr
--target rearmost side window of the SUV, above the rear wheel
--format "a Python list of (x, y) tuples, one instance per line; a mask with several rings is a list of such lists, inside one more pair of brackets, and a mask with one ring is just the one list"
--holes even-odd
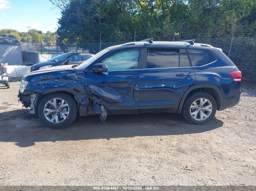
[(210, 51), (188, 49), (192, 66), (203, 66), (214, 62), (216, 58)]

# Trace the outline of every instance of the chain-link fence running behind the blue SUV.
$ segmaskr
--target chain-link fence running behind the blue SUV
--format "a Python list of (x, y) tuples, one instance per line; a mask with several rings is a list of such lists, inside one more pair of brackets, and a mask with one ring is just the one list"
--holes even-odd
[[(242, 84), (256, 87), (256, 29), (255, 26), (238, 26), (229, 29), (173, 29), (169, 31), (94, 34), (80, 39), (72, 45), (41, 45), (29, 43), (30, 52), (39, 54), (60, 54), (66, 52), (87, 52), (96, 54), (99, 51), (123, 43), (153, 38), (154, 41), (180, 41), (195, 39), (196, 43), (210, 44), (221, 48), (231, 61), (242, 72)], [(90, 39), (90, 40), (88, 40)], [(74, 40), (75, 42), (75, 40)], [(82, 43), (81, 43), (82, 42)], [(81, 46), (82, 44), (82, 46)], [(22, 50), (28, 51), (28, 43), (22, 43)], [(81, 48), (82, 47), (82, 48)]]

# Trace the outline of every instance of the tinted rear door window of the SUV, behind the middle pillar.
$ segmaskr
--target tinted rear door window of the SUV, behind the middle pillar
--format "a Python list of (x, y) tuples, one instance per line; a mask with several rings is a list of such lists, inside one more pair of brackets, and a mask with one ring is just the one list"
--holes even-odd
[(148, 49), (147, 68), (179, 67), (179, 49)]

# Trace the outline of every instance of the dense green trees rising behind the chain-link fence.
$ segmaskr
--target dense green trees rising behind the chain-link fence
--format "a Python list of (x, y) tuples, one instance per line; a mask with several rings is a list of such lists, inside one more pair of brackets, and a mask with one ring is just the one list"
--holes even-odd
[[(229, 34), (233, 25), (254, 25), (255, 0), (50, 0), (61, 10), (57, 33), (60, 42), (68, 40), (85, 46), (88, 41), (133, 40), (145, 37), (172, 38), (174, 29), (187, 31), (182, 38), (204, 34)], [(220, 30), (223, 30), (221, 31)], [(187, 30), (192, 29), (192, 30)]]

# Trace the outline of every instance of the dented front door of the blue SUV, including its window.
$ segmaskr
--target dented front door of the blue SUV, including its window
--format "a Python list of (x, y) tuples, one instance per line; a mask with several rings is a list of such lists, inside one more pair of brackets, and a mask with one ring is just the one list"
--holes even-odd
[(138, 113), (140, 52), (141, 49), (116, 51), (98, 62), (106, 64), (108, 72), (86, 73), (86, 91), (99, 100), (108, 114)]

